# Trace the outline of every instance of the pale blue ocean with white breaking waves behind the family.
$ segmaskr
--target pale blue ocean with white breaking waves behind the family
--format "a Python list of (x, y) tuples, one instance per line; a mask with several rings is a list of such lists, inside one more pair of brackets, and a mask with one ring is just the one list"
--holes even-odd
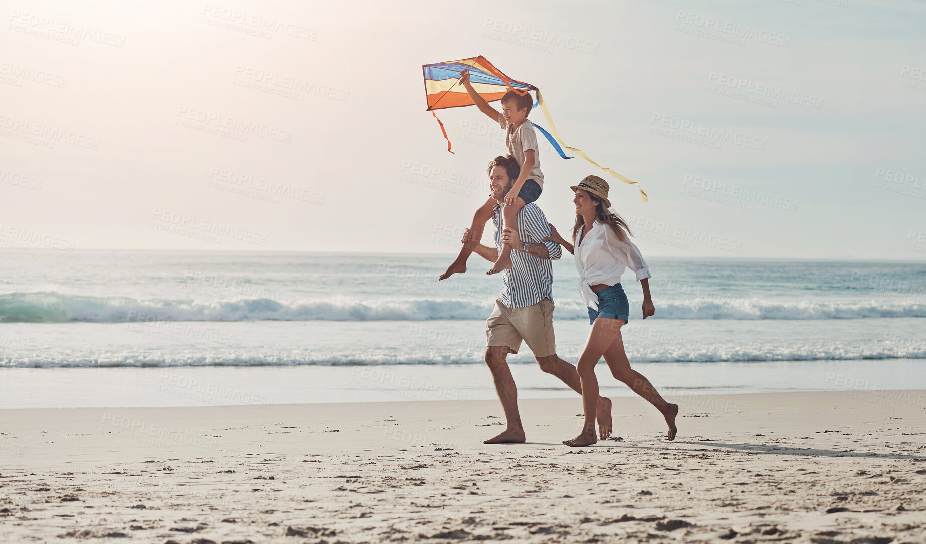
[[(0, 407), (494, 398), (482, 353), (501, 278), (478, 256), (441, 282), (451, 255), (0, 257)], [(640, 319), (625, 275), (623, 336), (669, 395), (926, 389), (926, 265), (648, 263), (656, 315)], [(568, 253), (554, 278), (557, 352), (574, 363), (589, 323)], [(522, 397), (574, 395), (526, 346), (509, 361)], [(608, 394), (629, 393), (606, 379)]]

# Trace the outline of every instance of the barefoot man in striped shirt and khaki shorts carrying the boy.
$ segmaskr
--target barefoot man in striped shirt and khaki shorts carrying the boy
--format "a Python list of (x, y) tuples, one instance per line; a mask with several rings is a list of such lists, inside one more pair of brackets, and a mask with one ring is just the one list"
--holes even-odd
[[(570, 389), (582, 394), (582, 382), (575, 366), (557, 356), (553, 335), (553, 266), (550, 260), (558, 259), (562, 250), (556, 242), (544, 241), (552, 235), (544, 212), (537, 204), (525, 204), (518, 212), (518, 229), (501, 231), (505, 195), (518, 174), (518, 162), (511, 155), (497, 156), (489, 163), (489, 187), (497, 203), (492, 218), (495, 247), (476, 243), (473, 249), (474, 253), (493, 263), (502, 244), (510, 244), (512, 249), (512, 266), (502, 273), (502, 292), (486, 321), (485, 349), (485, 364), (492, 371), (495, 391), (505, 410), (507, 428), (498, 436), (485, 440), (486, 444), (523, 442), (525, 439), (518, 412), (518, 389), (507, 363), (508, 353), (517, 353), (522, 340), (531, 348), (541, 370), (558, 377)], [(469, 229), (464, 231), (461, 242), (472, 242)], [(609, 399), (598, 398), (595, 416), (601, 438), (607, 439), (613, 429)]]

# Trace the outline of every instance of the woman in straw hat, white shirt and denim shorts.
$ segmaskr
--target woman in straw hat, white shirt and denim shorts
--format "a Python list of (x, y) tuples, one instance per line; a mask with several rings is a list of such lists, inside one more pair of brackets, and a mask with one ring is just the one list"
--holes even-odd
[[(553, 235), (546, 240), (558, 244), (575, 255), (579, 270), (579, 291), (588, 306), (592, 332), (585, 342), (585, 349), (577, 365), (582, 378), (582, 405), (585, 408), (585, 425), (582, 434), (570, 440), (563, 440), (567, 446), (588, 446), (598, 440), (594, 436), (594, 414), (597, 412), (598, 379), (594, 366), (602, 355), (611, 369), (611, 374), (627, 384), (634, 393), (656, 406), (669, 424), (669, 440), (675, 439), (675, 415), (677, 404), (669, 404), (659, 396), (649, 380), (631, 368), (624, 353), (620, 328), (627, 323), (629, 303), (620, 287), (620, 275), (625, 268), (636, 272), (636, 278), (643, 287), (643, 318), (656, 310), (649, 296), (649, 268), (640, 251), (630, 241), (631, 232), (627, 223), (609, 208), (607, 181), (598, 176), (588, 176), (579, 185), (573, 185), (576, 196), (576, 223), (572, 229), (572, 241), (563, 240), (557, 229), (550, 225)], [(591, 225), (586, 229), (587, 225)], [(605, 437), (602, 437), (605, 438)]]

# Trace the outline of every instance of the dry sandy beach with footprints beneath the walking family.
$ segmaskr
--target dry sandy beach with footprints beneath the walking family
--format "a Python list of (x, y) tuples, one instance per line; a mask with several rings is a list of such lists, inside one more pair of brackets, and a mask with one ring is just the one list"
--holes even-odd
[(0, 541), (922, 542), (926, 391), (0, 413)]

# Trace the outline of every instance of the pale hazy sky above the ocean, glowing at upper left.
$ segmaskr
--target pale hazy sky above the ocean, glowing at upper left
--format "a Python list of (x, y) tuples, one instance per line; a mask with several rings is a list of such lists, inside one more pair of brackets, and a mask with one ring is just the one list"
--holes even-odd
[(543, 146), (561, 231), (597, 173), (647, 256), (926, 259), (926, 2), (0, 9), (0, 249), (454, 253), (504, 137), (421, 65), (482, 55), (649, 194)]

